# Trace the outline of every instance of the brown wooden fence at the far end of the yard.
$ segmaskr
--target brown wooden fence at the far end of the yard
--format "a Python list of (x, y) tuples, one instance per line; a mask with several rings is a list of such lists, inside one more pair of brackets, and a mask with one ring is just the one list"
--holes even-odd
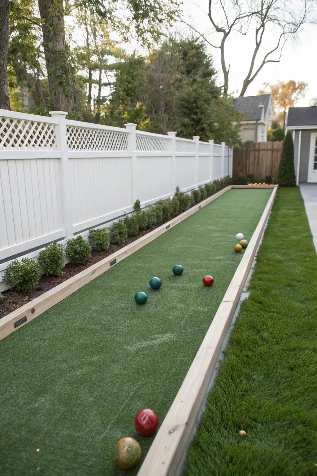
[(243, 150), (233, 151), (232, 176), (253, 174), (254, 177), (276, 177), (283, 141), (252, 142)]

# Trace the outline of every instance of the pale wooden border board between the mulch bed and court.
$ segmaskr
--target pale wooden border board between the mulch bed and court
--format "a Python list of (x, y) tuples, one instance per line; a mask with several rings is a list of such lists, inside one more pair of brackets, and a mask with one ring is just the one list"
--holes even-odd
[(136, 239), (112, 255), (109, 255), (89, 268), (84, 269), (84, 271), (77, 273), (72, 278), (67, 279), (67, 281), (55, 286), (55, 288), (49, 289), (49, 291), (41, 294), (41, 296), (38, 296), (35, 299), (32, 299), (32, 301), (25, 304), (24, 306), (19, 307), (7, 316), (0, 318), (0, 340), (6, 336), (9, 336), (9, 334), (24, 326), (35, 317), (38, 317), (50, 307), (54, 306), (58, 302), (62, 301), (65, 297), (77, 291), (77, 289), (82, 288), (85, 286), (85, 284), (89, 283), (89, 281), (92, 279), (97, 278), (97, 276), (107, 271), (107, 269), (111, 268), (114, 264), (130, 256), (132, 253), (134, 253), (134, 251), (137, 251), (147, 243), (150, 243), (152, 240), (162, 235), (170, 228), (173, 228), (185, 218), (190, 217), (193, 213), (208, 205), (213, 200), (229, 191), (231, 188), (231, 185), (222, 188), (219, 192), (214, 193), (202, 202), (194, 205), (192, 208), (189, 208), (189, 210), (184, 211), (167, 223), (155, 228), (153, 231), (150, 231), (150, 233), (147, 233), (143, 237)]

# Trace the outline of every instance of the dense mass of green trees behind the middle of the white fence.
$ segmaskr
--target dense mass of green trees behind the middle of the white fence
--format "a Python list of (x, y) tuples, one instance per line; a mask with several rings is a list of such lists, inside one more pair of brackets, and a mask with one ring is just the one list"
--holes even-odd
[(148, 58), (133, 54), (117, 64), (103, 121), (240, 146), (240, 113), (229, 96), (221, 95), (216, 74), (202, 41), (171, 37)]

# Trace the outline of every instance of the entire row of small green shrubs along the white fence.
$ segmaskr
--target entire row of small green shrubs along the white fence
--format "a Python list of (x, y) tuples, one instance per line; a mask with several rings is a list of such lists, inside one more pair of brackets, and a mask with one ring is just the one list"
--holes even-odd
[(14, 259), (4, 273), (4, 282), (15, 291), (33, 289), (38, 285), (43, 272), (49, 276), (61, 275), (66, 256), (70, 257), (74, 264), (85, 264), (91, 257), (92, 250), (106, 250), (109, 244), (123, 245), (128, 237), (136, 236), (139, 230), (162, 225), (230, 183), (229, 177), (214, 180), (192, 190), (191, 195), (176, 187), (173, 198), (159, 200), (145, 208), (141, 208), (140, 200), (136, 200), (134, 212), (114, 222), (108, 233), (105, 228), (92, 228), (88, 241), (78, 235), (67, 240), (65, 249), (63, 245), (53, 242), (39, 252), (38, 261), (26, 257), (21, 261)]

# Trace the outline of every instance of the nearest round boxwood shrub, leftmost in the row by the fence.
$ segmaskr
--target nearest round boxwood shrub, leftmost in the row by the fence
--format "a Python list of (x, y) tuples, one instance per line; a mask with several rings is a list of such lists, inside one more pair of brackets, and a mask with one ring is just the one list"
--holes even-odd
[(25, 257), (21, 261), (14, 259), (10, 262), (4, 272), (3, 280), (14, 291), (26, 291), (37, 286), (41, 274), (38, 262)]

